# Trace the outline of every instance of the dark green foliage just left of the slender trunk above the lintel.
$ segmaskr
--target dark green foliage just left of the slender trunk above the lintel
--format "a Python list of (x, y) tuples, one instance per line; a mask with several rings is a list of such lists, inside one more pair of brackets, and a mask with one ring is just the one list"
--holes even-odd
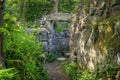
[(26, 21), (33, 21), (52, 11), (50, 0), (26, 0), (24, 17)]

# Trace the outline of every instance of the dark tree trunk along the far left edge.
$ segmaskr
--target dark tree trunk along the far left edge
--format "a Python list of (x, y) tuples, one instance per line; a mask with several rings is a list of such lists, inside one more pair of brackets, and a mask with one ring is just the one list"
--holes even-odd
[[(4, 3), (5, 3), (5, 0), (0, 0), (0, 28), (3, 27)], [(5, 67), (2, 55), (3, 55), (3, 33), (0, 32), (0, 69)]]

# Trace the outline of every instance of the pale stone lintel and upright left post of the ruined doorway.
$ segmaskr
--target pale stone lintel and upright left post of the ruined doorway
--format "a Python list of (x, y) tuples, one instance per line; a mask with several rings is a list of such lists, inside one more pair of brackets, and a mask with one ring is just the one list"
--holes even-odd
[[(63, 32), (61, 33), (56, 33), (54, 31), (54, 24), (55, 22), (59, 22), (59, 21), (62, 21), (62, 22), (69, 22), (69, 17), (70, 17), (70, 14), (69, 13), (52, 13), (52, 14), (48, 14), (48, 15), (45, 15), (41, 18), (41, 20), (39, 20), (39, 24), (43, 25), (44, 28), (46, 28), (48, 30), (48, 52), (50, 54), (54, 53), (55, 52), (55, 48), (58, 47), (56, 46), (58, 40), (63, 40), (63, 42), (69, 42), (67, 39), (68, 39), (68, 31), (64, 30)], [(66, 34), (67, 33), (67, 34)], [(56, 37), (59, 37), (59, 35), (61, 35), (60, 38), (56, 38)], [(67, 36), (66, 36), (67, 35)], [(65, 36), (67, 39), (65, 39)], [(63, 45), (63, 44), (58, 44), (59, 46), (60, 45)], [(68, 45), (68, 44), (67, 44)], [(62, 48), (62, 47), (61, 47)], [(59, 48), (60, 49), (60, 48)], [(64, 49), (64, 48), (63, 48)]]

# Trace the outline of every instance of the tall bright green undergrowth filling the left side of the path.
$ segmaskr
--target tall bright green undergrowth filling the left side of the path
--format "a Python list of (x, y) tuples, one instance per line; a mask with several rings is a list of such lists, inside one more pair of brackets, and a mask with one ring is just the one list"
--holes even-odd
[(6, 69), (0, 70), (0, 80), (48, 80), (43, 68), (42, 44), (34, 34), (27, 34), (30, 22), (19, 18), (18, 0), (7, 0), (5, 5), (4, 62)]

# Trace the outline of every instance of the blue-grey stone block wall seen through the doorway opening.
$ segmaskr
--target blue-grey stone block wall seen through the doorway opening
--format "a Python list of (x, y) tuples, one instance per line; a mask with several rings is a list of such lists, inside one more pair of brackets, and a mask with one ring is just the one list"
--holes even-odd
[(54, 32), (53, 39), (54, 51), (64, 53), (69, 51), (69, 33), (68, 29), (63, 32)]

